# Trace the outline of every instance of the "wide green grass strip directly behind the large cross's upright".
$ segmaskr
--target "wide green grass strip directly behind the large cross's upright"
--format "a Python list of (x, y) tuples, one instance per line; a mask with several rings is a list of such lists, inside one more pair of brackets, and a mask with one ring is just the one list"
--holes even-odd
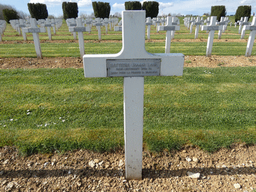
[[(256, 143), (256, 67), (184, 68), (145, 77), (145, 147), (213, 152)], [(0, 147), (24, 154), (124, 146), (123, 79), (83, 69), (0, 70)]]

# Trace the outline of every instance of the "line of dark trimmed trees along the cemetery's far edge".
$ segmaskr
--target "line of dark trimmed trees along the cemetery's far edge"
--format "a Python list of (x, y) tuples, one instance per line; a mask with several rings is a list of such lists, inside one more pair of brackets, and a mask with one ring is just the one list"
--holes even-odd
[[(109, 18), (110, 4), (100, 1), (93, 1), (93, 12), (95, 17)], [(46, 4), (42, 3), (28, 3), (28, 10), (32, 18), (47, 19), (49, 17)], [(78, 17), (78, 6), (77, 3), (63, 2), (62, 3), (63, 18), (76, 18)], [(146, 17), (157, 17), (159, 13), (159, 3), (156, 1), (145, 1), (143, 4), (140, 1), (126, 1), (125, 10), (145, 10)], [(248, 17), (250, 19), (252, 12), (252, 6), (238, 6), (236, 10), (235, 20), (241, 19), (241, 17)], [(217, 20), (220, 21), (221, 17), (225, 17), (227, 11), (225, 6), (212, 6), (211, 16), (217, 16)], [(28, 15), (23, 12), (17, 12), (15, 8), (9, 5), (0, 4), (0, 19), (9, 22), (12, 19), (24, 19)]]

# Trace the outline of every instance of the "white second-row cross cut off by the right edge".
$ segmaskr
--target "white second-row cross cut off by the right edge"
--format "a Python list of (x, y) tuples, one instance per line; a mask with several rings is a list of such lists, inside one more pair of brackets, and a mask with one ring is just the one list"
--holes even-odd
[(256, 16), (253, 17), (252, 19), (252, 24), (250, 26), (244, 26), (245, 30), (250, 30), (250, 35), (248, 38), (248, 43), (246, 46), (246, 52), (245, 52), (245, 56), (251, 56), (252, 54), (252, 47), (253, 47), (253, 43), (255, 40), (255, 34), (256, 34)]

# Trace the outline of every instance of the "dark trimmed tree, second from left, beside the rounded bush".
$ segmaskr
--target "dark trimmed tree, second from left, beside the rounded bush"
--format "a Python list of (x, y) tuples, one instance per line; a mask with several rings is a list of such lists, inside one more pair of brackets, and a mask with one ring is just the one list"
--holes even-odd
[(48, 11), (46, 4), (42, 3), (28, 3), (28, 10), (32, 18), (38, 19), (47, 19)]

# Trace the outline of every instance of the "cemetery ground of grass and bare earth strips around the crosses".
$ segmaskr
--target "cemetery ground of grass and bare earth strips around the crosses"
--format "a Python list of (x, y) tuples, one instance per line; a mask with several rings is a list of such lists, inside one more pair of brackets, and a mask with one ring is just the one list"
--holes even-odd
[[(205, 31), (193, 40), (181, 22), (171, 52), (185, 54), (184, 75), (145, 77), (139, 181), (124, 177), (122, 78), (85, 79), (65, 23), (52, 42), (40, 36), (43, 60), (31, 36), (9, 30), (0, 42), (0, 191), (256, 189), (255, 49), (243, 56), (238, 28), (205, 57)], [(100, 42), (85, 34), (86, 54), (122, 49), (120, 32)], [(150, 37), (147, 51), (164, 52), (164, 33)]]

